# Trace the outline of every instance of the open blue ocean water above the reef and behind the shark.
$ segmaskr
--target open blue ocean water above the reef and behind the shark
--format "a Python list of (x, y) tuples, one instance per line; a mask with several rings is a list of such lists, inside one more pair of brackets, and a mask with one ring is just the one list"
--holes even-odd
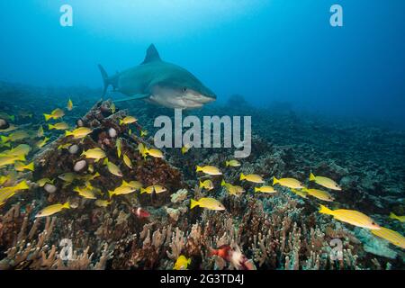
[[(62, 4), (73, 26), (59, 24)], [(343, 27), (329, 24), (332, 4)], [(405, 126), (401, 0), (16, 0), (0, 3), (0, 79), (101, 87), (138, 65), (150, 43), (225, 102), (282, 101), (296, 110)], [(271, 111), (269, 111), (271, 112)]]

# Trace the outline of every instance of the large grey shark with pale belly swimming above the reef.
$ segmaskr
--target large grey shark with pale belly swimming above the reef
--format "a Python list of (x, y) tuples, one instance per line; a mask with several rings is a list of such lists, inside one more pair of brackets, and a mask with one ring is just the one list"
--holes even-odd
[(216, 100), (210, 88), (192, 73), (163, 61), (154, 44), (150, 44), (146, 57), (138, 66), (108, 76), (98, 65), (103, 76), (103, 96), (112, 85), (113, 91), (125, 97), (115, 102), (143, 100), (167, 108), (194, 109)]

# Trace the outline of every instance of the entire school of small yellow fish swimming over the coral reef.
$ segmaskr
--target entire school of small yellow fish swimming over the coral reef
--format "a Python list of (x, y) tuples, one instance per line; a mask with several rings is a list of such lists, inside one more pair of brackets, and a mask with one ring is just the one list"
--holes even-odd
[[(73, 102), (70, 99), (67, 102), (66, 109), (67, 112), (70, 112), (74, 109)], [(115, 105), (112, 105), (111, 109), (112, 112), (115, 112)], [(14, 115), (4, 115), (4, 113), (2, 113), (1, 115), (3, 117), (7, 116), (7, 119), (10, 121), (14, 121), (15, 119)], [(65, 111), (63, 109), (56, 108), (52, 112), (44, 113), (43, 116), (45, 122), (49, 122), (52, 120), (58, 121), (59, 119), (62, 119), (63, 116), (65, 116)], [(119, 121), (119, 124), (130, 125), (132, 123), (135, 123), (136, 121), (137, 119), (135, 117), (126, 116)], [(67, 141), (67, 143), (60, 145), (58, 149), (70, 148), (72, 144), (68, 143), (68, 139), (84, 139), (93, 131), (92, 129), (87, 127), (78, 127), (74, 130), (69, 130), (69, 125), (65, 121), (48, 123), (48, 129), (64, 131), (65, 140)], [(0, 133), (0, 148), (3, 148), (2, 150), (0, 150), (0, 172), (2, 172), (3, 169), (6, 169), (9, 166), (14, 166), (14, 171), (7, 170), (5, 175), (0, 175), (1, 207), (16, 193), (22, 193), (23, 191), (30, 189), (30, 184), (26, 180), (20, 181), (18, 179), (19, 175), (17, 172), (22, 173), (25, 170), (34, 170), (34, 163), (28, 163), (26, 160), (27, 156), (33, 148), (43, 148), (49, 141), (49, 138), (44, 137), (43, 125), (40, 125), (38, 129), (35, 130), (20, 130), (18, 127), (12, 124), (7, 130), (0, 130)], [(139, 133), (140, 137), (148, 135), (147, 130), (139, 130)], [(22, 143), (25, 140), (28, 140), (28, 142)], [(115, 148), (117, 150), (118, 158), (122, 159), (122, 164), (132, 169), (133, 166), (130, 161), (130, 157), (125, 153), (122, 153), (122, 139), (120, 137), (117, 137), (115, 141)], [(190, 148), (192, 147), (184, 145), (184, 147), (181, 148), (181, 153), (183, 155), (188, 153)], [(147, 157), (164, 157), (162, 151), (157, 148), (148, 148), (142, 142), (139, 143), (138, 151), (139, 154), (144, 157), (144, 159), (147, 159)], [(144, 187), (143, 184), (141, 184), (137, 180), (132, 179), (131, 181), (127, 182), (126, 180), (121, 179), (121, 185), (115, 187), (113, 190), (107, 191), (105, 193), (105, 196), (108, 196), (108, 199), (103, 199), (105, 198), (103, 197), (103, 191), (99, 188), (95, 188), (91, 184), (91, 181), (100, 175), (98, 172), (94, 173), (94, 166), (91, 163), (97, 163), (98, 161), (102, 160), (103, 166), (105, 166), (106, 169), (113, 176), (122, 178), (123, 175), (120, 168), (121, 163), (112, 163), (112, 161), (108, 159), (103, 149), (99, 147), (83, 150), (80, 158), (86, 159), (89, 162), (87, 169), (91, 173), (90, 175), (77, 175), (74, 172), (68, 171), (61, 175), (58, 175), (58, 179), (63, 181), (64, 187), (73, 185), (74, 183), (76, 183), (75, 180), (81, 181), (82, 184), (76, 185), (74, 187), (72, 186), (72, 191), (85, 199), (94, 200), (94, 204), (98, 207), (107, 207), (112, 203), (115, 197), (135, 193), (136, 191), (139, 191), (139, 193), (141, 194), (165, 193), (167, 191), (164, 184), (152, 184)], [(233, 169), (241, 166), (241, 163), (236, 159), (229, 159), (225, 161), (224, 166), (225, 168)], [(217, 166), (196, 166), (195, 172), (197, 174), (201, 173), (203, 175), (199, 180), (199, 187), (201, 189), (205, 189), (207, 192), (215, 188), (214, 181), (212, 180), (220, 177), (220, 186), (223, 187), (225, 191), (230, 195), (239, 197), (243, 193), (246, 193), (243, 187), (226, 182), (226, 180), (222, 177), (223, 175), (220, 171), (220, 168)], [(38, 180), (36, 184), (38, 184), (40, 187), (48, 187), (49, 189), (51, 189), (56, 180), (57, 179), (43, 178)], [(307, 199), (309, 196), (311, 196), (323, 202), (334, 202), (335, 198), (331, 192), (342, 193), (342, 188), (334, 180), (321, 175), (313, 175), (312, 173), (309, 176), (309, 182), (316, 184), (317, 187), (315, 188), (307, 187), (301, 181), (292, 177), (276, 178), (274, 176), (272, 184), (266, 184), (266, 180), (261, 175), (240, 173), (238, 180), (241, 182), (249, 182), (253, 184), (254, 186), (252, 188), (254, 193), (275, 194), (277, 193), (275, 185), (279, 185), (288, 188), (289, 191), (304, 199)], [(320, 189), (320, 187), (322, 187), (323, 189)], [(212, 197), (192, 199), (190, 203), (190, 209), (193, 209), (194, 207), (201, 207), (203, 209), (208, 209), (211, 211), (226, 210), (225, 206), (220, 201)], [(40, 210), (36, 217), (47, 217), (60, 211), (72, 208), (74, 207), (72, 207), (69, 202), (54, 203)], [(345, 209), (330, 210), (328, 207), (320, 205), (319, 212), (325, 215), (330, 215), (335, 220), (340, 220), (356, 227), (370, 229), (375, 236), (384, 238), (398, 247), (405, 248), (405, 238), (400, 233), (395, 232), (391, 229), (381, 227), (373, 219), (360, 211)], [(405, 216), (397, 216), (394, 213), (391, 213), (389, 218), (392, 220), (400, 220), (401, 222), (405, 220)], [(180, 256), (175, 262), (174, 268), (186, 269), (189, 264), (190, 259), (187, 259), (184, 256)]]

